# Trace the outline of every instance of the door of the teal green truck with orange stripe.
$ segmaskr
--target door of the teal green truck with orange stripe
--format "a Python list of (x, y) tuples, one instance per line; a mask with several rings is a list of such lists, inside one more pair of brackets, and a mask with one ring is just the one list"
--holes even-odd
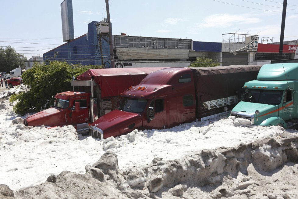
[(279, 117), (281, 117), (285, 121), (292, 119), (293, 109), (293, 90), (286, 90), (282, 102), (282, 111)]

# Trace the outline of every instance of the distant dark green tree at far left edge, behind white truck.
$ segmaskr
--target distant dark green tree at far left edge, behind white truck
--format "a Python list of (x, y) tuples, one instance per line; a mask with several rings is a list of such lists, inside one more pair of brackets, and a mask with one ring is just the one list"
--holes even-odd
[(0, 71), (8, 73), (17, 67), (25, 69), (27, 58), (10, 45), (5, 49), (0, 46)]

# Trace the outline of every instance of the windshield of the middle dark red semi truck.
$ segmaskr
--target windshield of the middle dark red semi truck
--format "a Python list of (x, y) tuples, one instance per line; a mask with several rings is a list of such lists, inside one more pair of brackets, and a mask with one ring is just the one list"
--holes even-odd
[(123, 98), (120, 103), (119, 110), (141, 113), (146, 107), (147, 99)]

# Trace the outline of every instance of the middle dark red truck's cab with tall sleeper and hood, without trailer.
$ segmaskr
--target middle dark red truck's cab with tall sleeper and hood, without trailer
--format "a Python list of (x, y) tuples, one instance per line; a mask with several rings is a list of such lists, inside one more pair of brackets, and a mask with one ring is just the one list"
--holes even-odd
[(190, 68), (154, 71), (139, 85), (124, 91), (121, 97), (117, 110), (90, 125), (89, 136), (116, 137), (133, 129), (171, 128), (196, 119), (195, 88)]

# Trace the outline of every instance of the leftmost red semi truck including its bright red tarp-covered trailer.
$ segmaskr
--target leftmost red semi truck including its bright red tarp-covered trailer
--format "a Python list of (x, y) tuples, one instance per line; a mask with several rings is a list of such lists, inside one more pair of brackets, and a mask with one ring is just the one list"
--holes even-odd
[(90, 69), (71, 81), (73, 91), (57, 93), (55, 106), (24, 119), (26, 126), (73, 125), (87, 133), (90, 123), (118, 108), (121, 92), (139, 84), (153, 68)]

